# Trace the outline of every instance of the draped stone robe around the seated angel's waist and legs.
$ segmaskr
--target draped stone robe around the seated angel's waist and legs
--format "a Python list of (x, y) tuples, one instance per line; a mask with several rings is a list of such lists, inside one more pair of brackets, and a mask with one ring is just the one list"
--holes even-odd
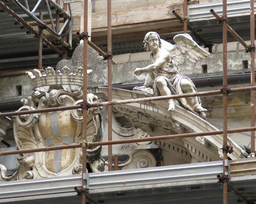
[[(154, 64), (154, 63), (155, 63), (155, 61), (154, 61), (154, 59), (152, 57), (152, 53), (151, 53), (151, 55), (150, 55), (150, 64)], [(194, 90), (197, 92), (196, 86), (192, 82), (192, 80), (190, 78), (188, 78), (186, 76), (182, 76), (182, 75), (180, 75), (180, 73), (178, 73), (178, 67), (175, 66), (173, 60), (172, 60), (172, 66), (171, 67), (160, 68), (160, 69), (158, 69), (154, 72), (148, 73), (148, 75), (150, 75), (152, 78), (154, 78), (153, 88), (145, 88), (145, 92), (147, 92), (147, 93), (149, 93), (153, 96), (160, 96), (161, 95), (160, 91), (159, 91), (159, 89), (158, 89), (158, 87), (155, 83), (156, 80), (159, 77), (162, 77), (166, 80), (167, 86), (171, 90), (172, 94), (183, 94), (183, 92), (181, 90), (181, 86), (180, 86), (180, 82), (181, 82), (182, 78), (186, 78), (187, 80), (189, 80), (191, 82), (191, 84), (193, 85)], [(196, 113), (194, 111), (194, 109), (192, 108), (192, 106), (188, 103), (186, 98), (179, 98), (179, 101), (182, 104), (182, 106), (184, 106), (185, 108), (187, 108), (191, 112)], [(198, 103), (201, 105), (201, 100), (200, 100), (199, 97), (198, 97)]]

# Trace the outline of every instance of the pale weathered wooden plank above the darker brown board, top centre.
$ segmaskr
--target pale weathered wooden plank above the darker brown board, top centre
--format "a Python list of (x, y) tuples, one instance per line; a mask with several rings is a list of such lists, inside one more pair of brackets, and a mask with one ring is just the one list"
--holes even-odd
[[(191, 0), (189, 4), (196, 4), (198, 0)], [(112, 26), (121, 26), (127, 24), (144, 23), (158, 20), (166, 20), (176, 17), (172, 14), (172, 10), (183, 14), (183, 4), (164, 4), (157, 6), (148, 6), (142, 8), (134, 8), (129, 10), (119, 10), (112, 12)], [(107, 12), (101, 14), (92, 14), (92, 29), (107, 26)]]

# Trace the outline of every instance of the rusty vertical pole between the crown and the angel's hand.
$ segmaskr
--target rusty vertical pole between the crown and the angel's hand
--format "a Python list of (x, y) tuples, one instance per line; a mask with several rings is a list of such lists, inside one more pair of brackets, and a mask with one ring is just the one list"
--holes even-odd
[[(108, 0), (108, 101), (112, 101), (111, 0)], [(108, 141), (112, 140), (112, 106), (108, 106)], [(108, 171), (112, 171), (112, 145), (108, 145)]]

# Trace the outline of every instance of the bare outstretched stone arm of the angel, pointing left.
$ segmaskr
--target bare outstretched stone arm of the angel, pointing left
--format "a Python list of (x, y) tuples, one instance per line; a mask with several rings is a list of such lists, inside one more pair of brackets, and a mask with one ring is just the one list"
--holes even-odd
[(161, 51), (160, 57), (156, 60), (155, 63), (148, 65), (144, 68), (136, 68), (134, 71), (135, 75), (141, 75), (142, 73), (150, 73), (154, 72), (162, 67), (165, 67), (166, 64), (170, 61), (171, 57), (167, 51)]

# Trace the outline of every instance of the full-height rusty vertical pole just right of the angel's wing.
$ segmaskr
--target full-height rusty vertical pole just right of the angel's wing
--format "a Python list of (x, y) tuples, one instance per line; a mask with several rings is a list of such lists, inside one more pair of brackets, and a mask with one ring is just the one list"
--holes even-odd
[[(227, 0), (223, 0), (223, 176), (228, 172), (228, 75), (227, 75)], [(223, 180), (223, 204), (228, 204), (228, 179)]]

